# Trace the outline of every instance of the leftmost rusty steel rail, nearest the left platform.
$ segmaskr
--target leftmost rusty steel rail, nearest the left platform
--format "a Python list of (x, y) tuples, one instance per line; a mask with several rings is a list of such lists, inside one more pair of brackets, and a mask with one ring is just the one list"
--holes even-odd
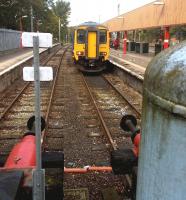
[[(46, 65), (48, 63), (48, 61), (51, 59), (51, 57), (53, 57), (60, 49), (58, 49), (52, 55), (50, 55), (49, 57), (47, 57), (47, 59), (42, 60), (41, 62), (44, 62), (44, 63), (42, 63), (42, 65)], [(6, 116), (6, 114), (8, 113), (8, 111), (13, 107), (13, 105), (16, 103), (16, 101), (19, 99), (19, 97), (23, 94), (23, 92), (28, 88), (28, 86), (30, 84), (31, 84), (31, 82), (28, 82), (28, 83), (26, 83), (23, 86), (23, 88), (21, 89), (21, 91), (19, 92), (19, 94), (16, 95), (16, 97), (13, 99), (13, 101), (10, 103), (10, 105), (7, 108), (5, 108), (5, 110), (3, 111), (3, 113), (0, 116), (0, 120), (3, 119)]]

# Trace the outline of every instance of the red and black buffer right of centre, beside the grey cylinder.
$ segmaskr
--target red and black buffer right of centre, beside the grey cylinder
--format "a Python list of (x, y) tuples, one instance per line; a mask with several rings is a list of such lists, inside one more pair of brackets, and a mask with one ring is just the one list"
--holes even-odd
[(139, 145), (141, 139), (140, 129), (136, 127), (137, 120), (132, 115), (125, 115), (121, 119), (120, 126), (124, 131), (130, 131), (133, 148), (118, 149), (111, 152), (111, 166), (114, 174), (131, 177), (131, 198), (135, 199), (137, 185), (137, 166)]

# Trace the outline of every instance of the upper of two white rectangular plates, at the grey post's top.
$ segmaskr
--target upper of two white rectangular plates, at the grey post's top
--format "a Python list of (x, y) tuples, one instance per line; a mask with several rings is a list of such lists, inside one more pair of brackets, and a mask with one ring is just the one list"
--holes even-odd
[(39, 47), (52, 47), (52, 34), (51, 33), (35, 33), (23, 32), (22, 45), (23, 47), (33, 47), (33, 36), (39, 37)]

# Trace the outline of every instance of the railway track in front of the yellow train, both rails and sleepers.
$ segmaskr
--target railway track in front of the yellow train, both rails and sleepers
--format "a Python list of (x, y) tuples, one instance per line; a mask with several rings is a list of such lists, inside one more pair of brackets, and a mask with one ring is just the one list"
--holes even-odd
[[(140, 118), (139, 108), (137, 109), (114, 84), (106, 77), (86, 77), (85, 85), (91, 95), (98, 112), (102, 127), (109, 139), (112, 149), (124, 145), (123, 131), (119, 127), (120, 119), (125, 114), (133, 114)], [(124, 101), (123, 101), (124, 99)], [(122, 146), (120, 146), (122, 148)]]

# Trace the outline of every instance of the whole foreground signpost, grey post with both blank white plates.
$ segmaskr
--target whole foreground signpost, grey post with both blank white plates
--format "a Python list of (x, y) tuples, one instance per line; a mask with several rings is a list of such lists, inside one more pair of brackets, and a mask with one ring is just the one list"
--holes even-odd
[(36, 169), (33, 171), (33, 199), (45, 200), (45, 170), (42, 169), (41, 157), (41, 114), (40, 114), (40, 80), (51, 81), (53, 71), (51, 67), (39, 67), (39, 47), (51, 47), (50, 33), (23, 33), (24, 47), (33, 47), (33, 67), (23, 69), (23, 79), (34, 81), (35, 87), (35, 134), (36, 134)]

